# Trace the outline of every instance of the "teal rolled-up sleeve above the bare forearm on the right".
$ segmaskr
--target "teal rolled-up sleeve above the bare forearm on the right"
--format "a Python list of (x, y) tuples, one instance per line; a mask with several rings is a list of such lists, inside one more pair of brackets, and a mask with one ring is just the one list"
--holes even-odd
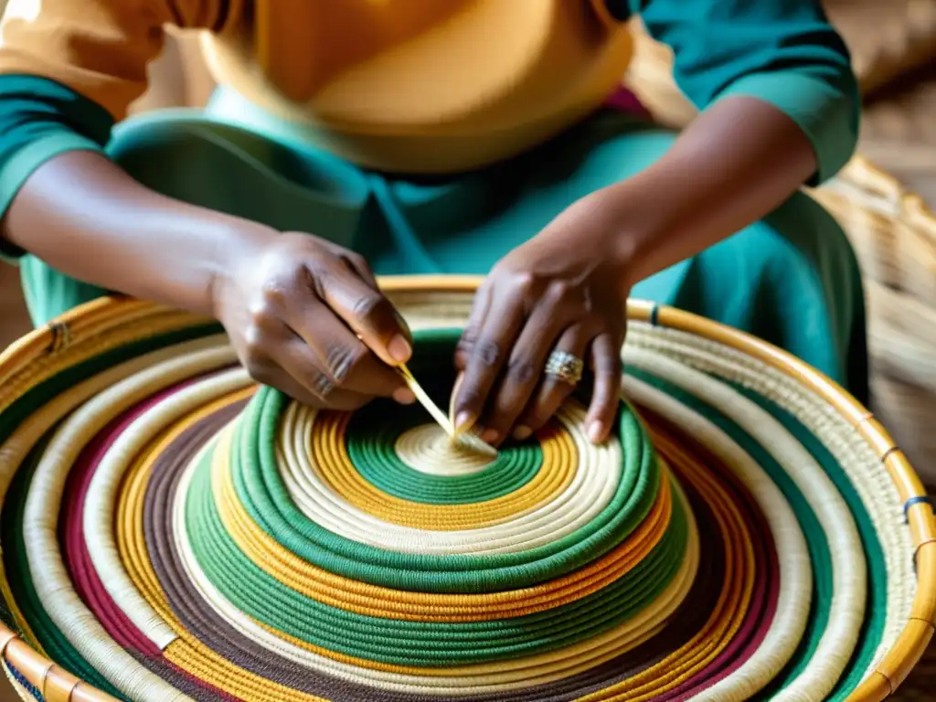
[(849, 51), (819, 0), (608, 0), (625, 2), (673, 50), (674, 78), (699, 110), (731, 95), (782, 110), (812, 141), (812, 185), (852, 157), (861, 97)]

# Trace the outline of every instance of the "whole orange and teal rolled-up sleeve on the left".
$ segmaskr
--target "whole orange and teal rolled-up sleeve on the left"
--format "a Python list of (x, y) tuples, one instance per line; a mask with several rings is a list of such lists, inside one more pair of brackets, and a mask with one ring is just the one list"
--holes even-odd
[[(148, 83), (166, 24), (220, 31), (228, 0), (9, 0), (0, 21), (0, 218), (30, 174), (101, 151)], [(241, 7), (237, 5), (236, 7)], [(0, 236), (0, 256), (22, 254)]]

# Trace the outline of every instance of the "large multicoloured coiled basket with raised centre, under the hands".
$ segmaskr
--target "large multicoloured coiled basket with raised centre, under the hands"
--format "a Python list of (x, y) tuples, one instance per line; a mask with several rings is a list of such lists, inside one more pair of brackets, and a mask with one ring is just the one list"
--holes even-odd
[[(391, 279), (443, 405), (475, 280)], [(618, 430), (490, 460), (314, 412), (215, 324), (99, 300), (0, 357), (0, 651), (26, 698), (855, 700), (936, 613), (936, 519), (795, 358), (634, 302)]]

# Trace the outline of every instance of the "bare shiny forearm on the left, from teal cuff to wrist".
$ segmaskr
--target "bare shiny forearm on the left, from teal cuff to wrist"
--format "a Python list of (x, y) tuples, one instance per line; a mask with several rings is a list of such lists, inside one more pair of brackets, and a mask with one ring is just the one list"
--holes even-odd
[(68, 152), (29, 177), (3, 236), (93, 285), (212, 314), (212, 285), (275, 232), (163, 197), (102, 154)]

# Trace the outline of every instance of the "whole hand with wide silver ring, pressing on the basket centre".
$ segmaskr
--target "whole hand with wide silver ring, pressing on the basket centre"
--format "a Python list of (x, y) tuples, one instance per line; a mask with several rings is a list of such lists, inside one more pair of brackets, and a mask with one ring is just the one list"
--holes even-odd
[(603, 442), (617, 414), (630, 283), (621, 227), (601, 194), (563, 212), (502, 258), (475, 296), (456, 351), (455, 424), (490, 444), (540, 429), (575, 389), (545, 373), (564, 352), (594, 376), (586, 431)]

